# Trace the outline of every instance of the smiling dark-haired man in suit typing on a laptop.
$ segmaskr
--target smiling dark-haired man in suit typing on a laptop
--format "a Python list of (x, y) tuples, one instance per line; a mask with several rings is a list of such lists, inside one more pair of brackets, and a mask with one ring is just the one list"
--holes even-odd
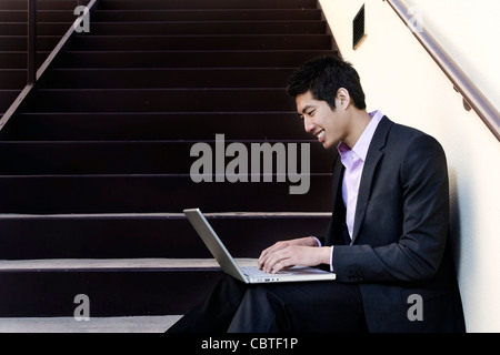
[(368, 113), (357, 71), (340, 59), (309, 61), (288, 93), (306, 131), (339, 152), (332, 219), (324, 239), (278, 242), (259, 267), (322, 265), (337, 281), (247, 286), (224, 276), (170, 332), (464, 332), (441, 145)]

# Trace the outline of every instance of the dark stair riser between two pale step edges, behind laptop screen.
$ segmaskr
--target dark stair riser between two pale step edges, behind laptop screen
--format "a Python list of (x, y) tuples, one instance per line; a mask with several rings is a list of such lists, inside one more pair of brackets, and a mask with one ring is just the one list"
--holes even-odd
[[(324, 235), (329, 216), (208, 217), (234, 257), (259, 257), (281, 240)], [(210, 258), (184, 217), (0, 217), (0, 260)], [(179, 237), (179, 236), (182, 237)]]

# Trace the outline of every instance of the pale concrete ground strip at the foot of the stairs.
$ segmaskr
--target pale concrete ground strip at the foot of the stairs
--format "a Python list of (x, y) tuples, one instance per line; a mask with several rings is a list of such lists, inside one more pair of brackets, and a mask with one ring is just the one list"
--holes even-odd
[(0, 333), (164, 333), (181, 316), (0, 318)]

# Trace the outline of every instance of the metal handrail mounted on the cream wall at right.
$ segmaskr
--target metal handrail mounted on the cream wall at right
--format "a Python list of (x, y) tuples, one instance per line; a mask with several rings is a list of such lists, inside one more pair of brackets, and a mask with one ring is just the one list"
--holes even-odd
[[(386, 0), (383, 0), (386, 1)], [(387, 0), (400, 19), (408, 26), (412, 26), (413, 17), (408, 7), (400, 0)], [(457, 62), (426, 30), (423, 23), (419, 23), (419, 31), (412, 31), (417, 40), (422, 44), (436, 63), (441, 68), (448, 79), (463, 100), (476, 111), (484, 124), (500, 141), (500, 113), (491, 101), (478, 89), (472, 80), (460, 69)]]

